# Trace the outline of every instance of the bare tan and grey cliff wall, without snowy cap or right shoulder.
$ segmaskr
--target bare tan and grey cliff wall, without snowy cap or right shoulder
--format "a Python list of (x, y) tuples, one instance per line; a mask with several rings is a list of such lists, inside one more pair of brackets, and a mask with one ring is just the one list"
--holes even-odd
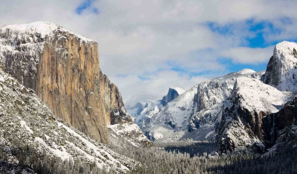
[(109, 143), (97, 42), (86, 43), (76, 35), (54, 31), (51, 37), (24, 43), (16, 46), (19, 53), (6, 54), (7, 72), (34, 89), (56, 116), (99, 142)]

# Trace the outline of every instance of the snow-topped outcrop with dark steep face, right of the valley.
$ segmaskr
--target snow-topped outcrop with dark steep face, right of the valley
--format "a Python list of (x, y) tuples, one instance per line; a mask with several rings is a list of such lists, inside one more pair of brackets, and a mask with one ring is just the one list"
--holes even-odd
[(263, 153), (263, 118), (276, 113), (290, 99), (290, 92), (278, 91), (258, 79), (238, 77), (232, 97), (224, 102), (222, 120), (216, 130), (221, 152)]

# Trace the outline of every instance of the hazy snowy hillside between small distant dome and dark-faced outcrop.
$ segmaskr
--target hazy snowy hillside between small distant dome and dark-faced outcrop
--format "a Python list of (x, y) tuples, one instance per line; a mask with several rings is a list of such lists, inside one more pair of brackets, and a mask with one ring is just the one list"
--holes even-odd
[(199, 83), (165, 106), (156, 102), (144, 108), (136, 123), (151, 140), (211, 139), (236, 77), (260, 78), (259, 73), (251, 76), (252, 72), (244, 69)]

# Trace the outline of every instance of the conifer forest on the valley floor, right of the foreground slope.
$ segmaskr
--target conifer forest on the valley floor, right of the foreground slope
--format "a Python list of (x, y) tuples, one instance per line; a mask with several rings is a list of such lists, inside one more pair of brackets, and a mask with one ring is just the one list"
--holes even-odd
[(213, 152), (210, 141), (154, 143), (148, 148), (118, 148), (113, 151), (142, 165), (129, 174), (289, 174), (297, 173), (297, 149), (282, 149), (269, 155)]

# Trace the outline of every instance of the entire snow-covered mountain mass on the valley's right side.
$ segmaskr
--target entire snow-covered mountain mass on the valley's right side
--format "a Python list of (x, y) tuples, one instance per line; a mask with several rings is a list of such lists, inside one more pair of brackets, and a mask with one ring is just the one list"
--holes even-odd
[[(279, 129), (265, 120), (268, 116), (274, 118), (271, 115), (279, 113), (295, 96), (296, 49), (296, 43), (280, 42), (266, 71), (242, 69), (199, 83), (164, 106), (158, 101), (144, 108), (137, 124), (151, 140), (214, 139), (221, 152), (265, 152), (282, 143), (279, 139), (267, 145), (266, 142), (272, 142), (267, 139), (272, 134), (267, 130)], [(283, 131), (274, 136), (292, 139), (297, 135), (296, 123), (285, 123), (289, 128), (282, 126), (282, 130), (291, 133)]]

